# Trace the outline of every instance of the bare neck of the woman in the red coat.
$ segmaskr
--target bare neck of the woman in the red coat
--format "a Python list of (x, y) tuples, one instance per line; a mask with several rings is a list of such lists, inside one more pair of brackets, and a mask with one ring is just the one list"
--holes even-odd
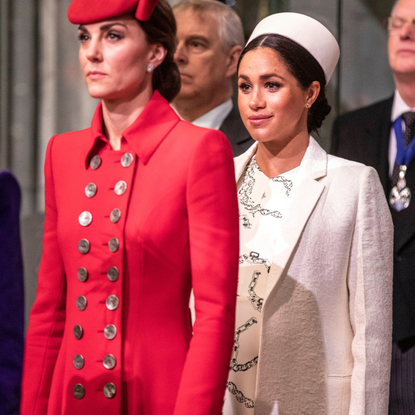
[(129, 100), (103, 100), (102, 119), (104, 134), (113, 150), (121, 149), (123, 132), (137, 119), (151, 98), (153, 91), (146, 90)]

